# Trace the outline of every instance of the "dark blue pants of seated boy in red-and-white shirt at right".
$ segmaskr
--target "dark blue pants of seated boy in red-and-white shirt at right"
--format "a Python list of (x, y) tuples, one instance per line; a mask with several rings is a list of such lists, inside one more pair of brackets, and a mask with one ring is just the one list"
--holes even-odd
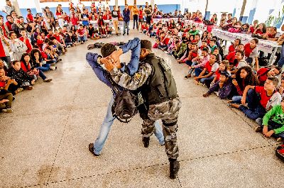
[(257, 118), (262, 118), (266, 114), (266, 109), (261, 106), (260, 98), (254, 89), (249, 89), (246, 94), (246, 101), (248, 102), (248, 107), (240, 106), (239, 109), (244, 112), (244, 114), (253, 120)]

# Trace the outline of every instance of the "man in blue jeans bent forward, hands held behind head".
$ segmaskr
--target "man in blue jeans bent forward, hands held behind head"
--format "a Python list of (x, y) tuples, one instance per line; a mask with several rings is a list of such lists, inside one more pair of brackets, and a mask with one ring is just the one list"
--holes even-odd
[[(111, 44), (106, 44), (102, 47), (102, 55), (103, 57), (107, 57), (111, 55), (111, 52), (114, 52), (116, 50), (116, 47)], [(138, 65), (139, 65), (139, 57), (140, 57), (140, 39), (139, 38), (134, 38), (133, 40), (129, 40), (128, 43), (125, 45), (121, 46), (120, 49), (121, 53), (126, 53), (129, 50), (131, 50), (131, 60), (129, 64), (123, 65), (121, 71), (122, 72), (129, 72), (129, 74), (134, 74), (138, 70)], [(111, 87), (111, 82), (109, 82), (109, 77), (107, 76), (108, 72), (107, 70), (104, 70), (104, 68), (100, 65), (101, 62), (104, 62), (107, 60), (106, 58), (102, 58), (100, 55), (96, 53), (91, 53), (88, 52), (86, 55), (86, 60), (89, 63), (89, 65), (92, 67), (92, 70), (94, 70), (94, 73), (97, 75), (99, 80), (104, 82), (104, 84), (107, 84), (108, 87)], [(102, 123), (101, 129), (99, 131), (99, 136), (97, 137), (97, 140), (95, 140), (94, 143), (89, 144), (89, 151), (95, 155), (99, 156), (102, 148), (104, 147), (104, 143), (107, 140), (107, 136), (109, 134), (110, 128), (112, 124), (114, 123), (115, 117), (112, 116), (111, 112), (111, 106), (114, 103), (114, 96), (111, 96), (111, 101), (109, 101), (109, 106), (107, 109), (107, 115), (104, 118), (104, 122)], [(155, 122), (155, 130), (154, 130), (155, 136), (158, 138), (160, 145), (164, 145), (164, 137), (163, 137), (163, 132), (161, 129), (161, 126), (158, 124), (158, 122)], [(144, 144), (144, 147), (148, 147), (148, 145)]]

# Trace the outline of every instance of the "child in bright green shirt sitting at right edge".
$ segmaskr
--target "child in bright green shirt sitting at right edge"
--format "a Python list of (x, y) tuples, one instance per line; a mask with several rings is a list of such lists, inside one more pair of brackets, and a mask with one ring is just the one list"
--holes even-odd
[(284, 100), (266, 113), (263, 118), (258, 118), (256, 122), (257, 133), (263, 133), (266, 137), (277, 138), (278, 141), (284, 139)]

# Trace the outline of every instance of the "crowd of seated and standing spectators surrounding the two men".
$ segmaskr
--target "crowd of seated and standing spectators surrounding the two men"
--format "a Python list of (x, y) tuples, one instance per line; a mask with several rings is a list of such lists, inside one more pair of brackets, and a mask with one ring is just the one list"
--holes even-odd
[[(155, 38), (153, 48), (163, 50), (175, 57), (177, 63), (186, 65), (185, 79), (193, 77), (195, 84), (208, 87), (204, 97), (215, 92), (220, 99), (228, 99), (229, 106), (256, 120), (260, 126), (256, 131), (262, 131), (267, 137), (284, 138), (283, 52), (275, 59), (278, 66), (261, 67), (263, 62), (259, 60), (264, 53), (258, 50), (259, 40), (283, 44), (284, 35), (275, 27), (266, 27), (257, 20), (250, 26), (233, 18), (231, 13), (223, 13), (217, 26), (216, 14), (204, 21), (200, 11), (163, 13), (158, 6), (148, 3), (134, 5), (132, 9), (125, 5), (122, 11), (119, 6), (113, 6), (111, 10), (101, 1), (97, 5), (93, 1), (90, 9), (81, 1), (76, 6), (70, 1), (69, 15), (62, 11), (60, 4), (55, 13), (45, 7), (42, 16), (34, 16), (27, 9), (28, 16), (23, 18), (17, 16), (9, 0), (6, 3), (9, 6), (6, 23), (0, 16), (0, 103), (4, 105), (4, 112), (12, 111), (13, 96), (23, 89), (33, 89), (38, 77), (43, 82), (52, 80), (44, 72), (56, 70), (56, 63), (67, 48), (88, 39), (107, 38), (113, 32), (120, 35), (121, 30), (123, 35), (129, 35), (132, 15), (132, 28)], [(169, 18), (170, 21), (154, 23), (154, 18)], [(254, 38), (249, 43), (236, 39), (226, 49), (224, 40), (208, 31), (199, 31), (195, 26), (187, 26), (185, 20), (216, 25), (229, 32), (250, 33)], [(119, 28), (119, 21), (124, 22), (123, 28)], [(267, 58), (270, 56), (268, 54)]]

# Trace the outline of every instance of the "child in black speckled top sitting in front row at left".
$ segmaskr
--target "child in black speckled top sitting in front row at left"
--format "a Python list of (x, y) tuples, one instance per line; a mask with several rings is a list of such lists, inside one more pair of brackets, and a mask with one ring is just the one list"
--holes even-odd
[(18, 83), (18, 86), (31, 90), (33, 89), (33, 84), (35, 84), (35, 79), (33, 76), (28, 75), (21, 69), (21, 62), (13, 61), (12, 67), (8, 71), (8, 76)]

